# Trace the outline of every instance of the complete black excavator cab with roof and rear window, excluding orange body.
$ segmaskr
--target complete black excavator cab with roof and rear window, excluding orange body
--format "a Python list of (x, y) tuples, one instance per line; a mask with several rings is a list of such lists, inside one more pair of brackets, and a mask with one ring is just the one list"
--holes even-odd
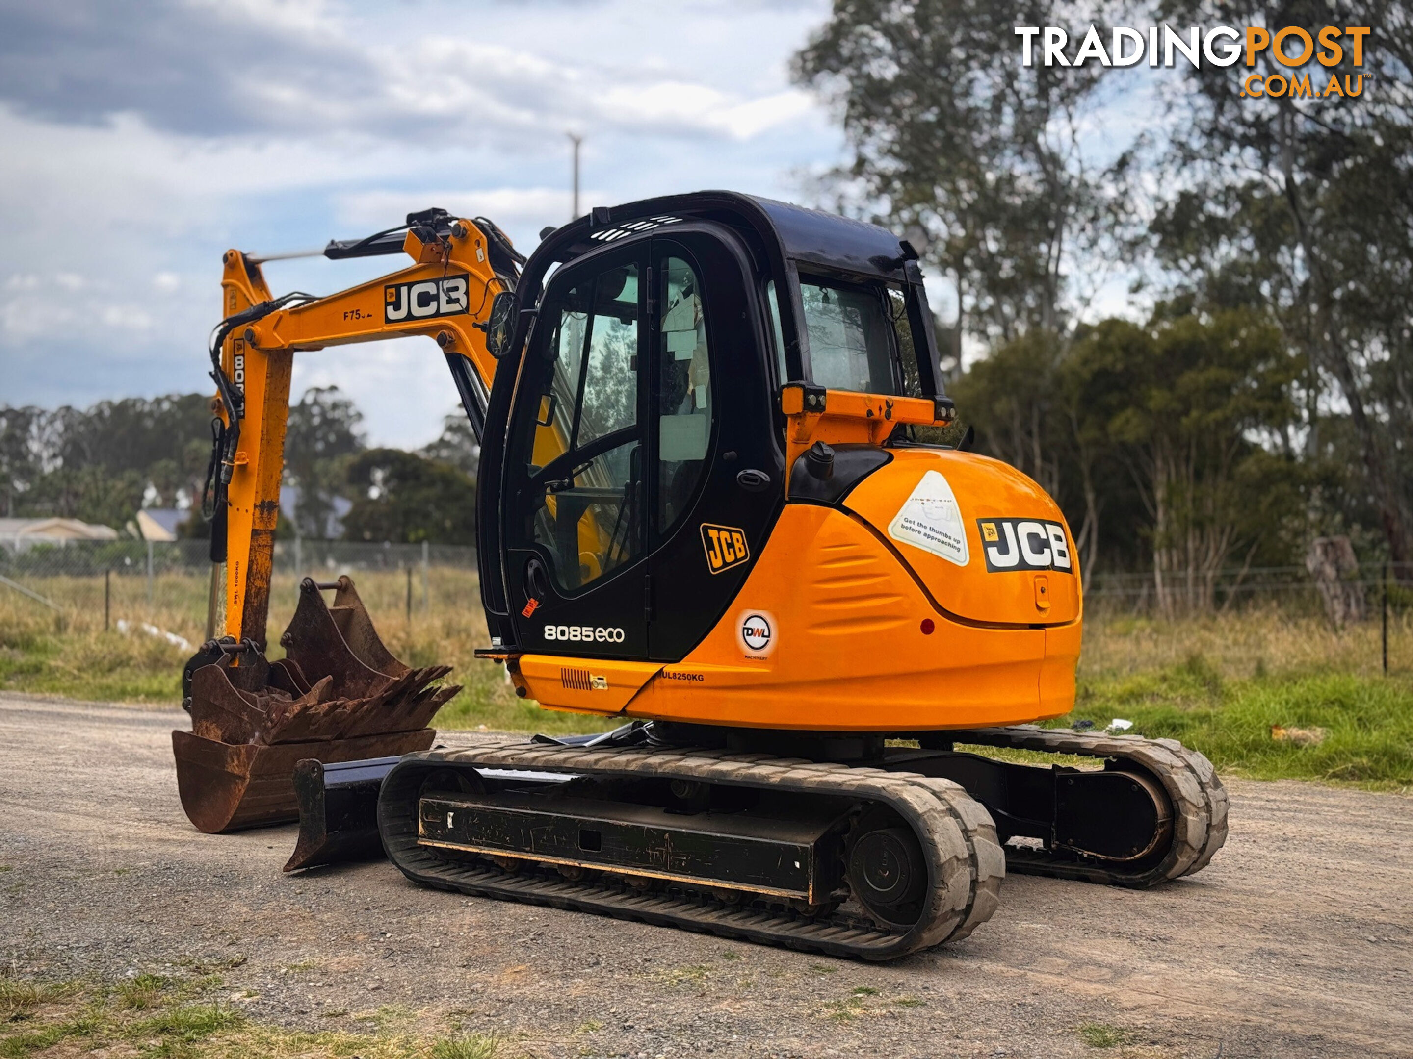
[(870, 225), (726, 193), (596, 219), (520, 285), (519, 363), (492, 395), (507, 425), (485, 442), (486, 603), (502, 648), (677, 661), (786, 501), (781, 387), (921, 398), (933, 418), (931, 313), (916, 254)]

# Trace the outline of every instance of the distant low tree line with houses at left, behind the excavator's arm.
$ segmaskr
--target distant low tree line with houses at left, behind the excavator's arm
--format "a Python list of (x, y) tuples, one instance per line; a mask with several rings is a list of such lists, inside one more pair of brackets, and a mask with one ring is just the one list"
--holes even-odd
[[(466, 417), (448, 415), (441, 436), (418, 452), (369, 448), (362, 419), (338, 387), (309, 388), (290, 405), (284, 483), (297, 501), (292, 517), (281, 511), (277, 535), (326, 538), (338, 530), (349, 541), (475, 544), (480, 449)], [(191, 513), (184, 535), (208, 537), (201, 504), (211, 429), (211, 397), (202, 394), (86, 409), (0, 405), (0, 514), (136, 534), (138, 510), (175, 507)]]

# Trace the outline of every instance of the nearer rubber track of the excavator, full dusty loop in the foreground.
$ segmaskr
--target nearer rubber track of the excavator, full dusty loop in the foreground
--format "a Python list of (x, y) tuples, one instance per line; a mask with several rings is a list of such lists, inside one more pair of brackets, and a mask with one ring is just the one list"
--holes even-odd
[[(451, 861), (417, 844), (422, 777), (447, 765), (651, 775), (882, 802), (917, 833), (933, 890), (914, 926), (890, 931), (839, 912), (805, 916), (764, 901), (732, 905), (684, 887), (644, 892), (609, 873), (575, 882), (550, 868), (506, 873), (483, 860)], [(892, 960), (965, 938), (995, 912), (1006, 873), (991, 815), (950, 779), (711, 750), (523, 744), (410, 754), (383, 782), (379, 830), (393, 863), (427, 885), (865, 960)]]

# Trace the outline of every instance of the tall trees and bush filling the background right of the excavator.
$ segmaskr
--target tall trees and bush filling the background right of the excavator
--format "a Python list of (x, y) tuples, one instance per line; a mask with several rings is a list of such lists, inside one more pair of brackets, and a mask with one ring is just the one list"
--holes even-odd
[[(1074, 56), (1091, 21), (1366, 25), (1361, 66), (1318, 68), (1364, 89), (1243, 96), (1291, 72), (1269, 51), (1022, 66), (1017, 25), (1068, 28)], [(947, 280), (978, 449), (1056, 496), (1088, 572), (1198, 602), (1321, 535), (1413, 561), (1410, 71), (1392, 0), (836, 0), (794, 59), (849, 144), (821, 193)], [(1121, 282), (1146, 308), (1092, 312)]]

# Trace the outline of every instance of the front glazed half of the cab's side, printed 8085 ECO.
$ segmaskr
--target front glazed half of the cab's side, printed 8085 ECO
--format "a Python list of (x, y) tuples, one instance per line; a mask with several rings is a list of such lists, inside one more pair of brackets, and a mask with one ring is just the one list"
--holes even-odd
[(506, 587), (527, 651), (647, 657), (646, 243), (557, 273), (516, 388)]

